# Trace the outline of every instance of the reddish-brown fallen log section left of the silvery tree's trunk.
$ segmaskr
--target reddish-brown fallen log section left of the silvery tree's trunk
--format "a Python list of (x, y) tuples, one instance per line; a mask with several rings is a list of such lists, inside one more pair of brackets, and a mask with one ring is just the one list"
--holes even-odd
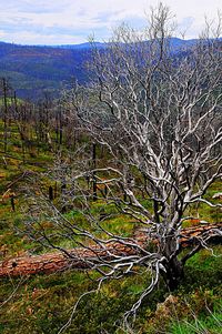
[(50, 274), (68, 269), (89, 269), (99, 259), (108, 259), (112, 255), (133, 255), (133, 247), (124, 246), (121, 243), (110, 243), (105, 250), (92, 245), (89, 249), (75, 247), (65, 252), (54, 252), (43, 255), (30, 255), (9, 259), (0, 263), (0, 277), (21, 276), (44, 273)]

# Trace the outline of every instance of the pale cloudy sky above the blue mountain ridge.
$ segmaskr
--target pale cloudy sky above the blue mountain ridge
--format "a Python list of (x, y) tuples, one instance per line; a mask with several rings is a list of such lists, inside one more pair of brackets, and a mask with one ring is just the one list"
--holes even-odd
[[(147, 23), (153, 0), (0, 0), (0, 41), (20, 44), (78, 44), (94, 36), (108, 40), (122, 22), (135, 29)], [(216, 18), (221, 0), (167, 0), (176, 33), (196, 38), (204, 16)]]

